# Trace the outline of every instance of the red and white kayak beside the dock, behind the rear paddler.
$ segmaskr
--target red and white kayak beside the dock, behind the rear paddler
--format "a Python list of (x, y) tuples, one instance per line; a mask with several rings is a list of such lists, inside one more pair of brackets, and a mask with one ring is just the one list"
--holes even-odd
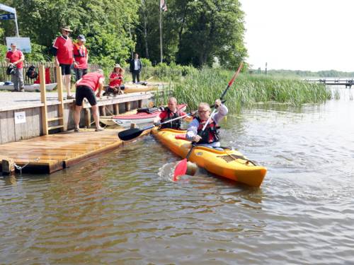
[[(178, 110), (185, 111), (187, 105), (180, 104), (177, 107)], [(122, 115), (113, 116), (112, 120), (113, 122), (115, 122), (115, 124), (124, 127), (130, 126), (130, 124), (132, 123), (135, 124), (152, 123), (154, 121), (154, 118), (158, 116), (162, 110), (164, 110), (164, 107), (143, 108), (143, 109), (138, 109), (137, 113), (135, 114), (129, 114), (129, 115), (122, 114)]]

